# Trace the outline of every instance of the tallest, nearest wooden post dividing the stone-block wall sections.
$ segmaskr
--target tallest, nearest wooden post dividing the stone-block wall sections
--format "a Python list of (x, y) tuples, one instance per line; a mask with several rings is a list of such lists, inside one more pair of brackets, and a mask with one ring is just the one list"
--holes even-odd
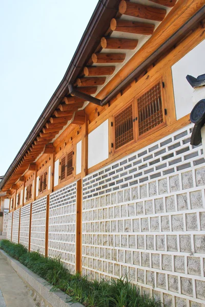
[(82, 180), (77, 183), (75, 272), (82, 271)]

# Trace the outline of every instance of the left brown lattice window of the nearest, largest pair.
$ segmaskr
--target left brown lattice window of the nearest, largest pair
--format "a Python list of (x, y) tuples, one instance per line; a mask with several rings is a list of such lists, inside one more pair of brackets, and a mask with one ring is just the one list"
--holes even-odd
[(132, 104), (114, 117), (114, 127), (115, 149), (131, 142), (134, 139)]

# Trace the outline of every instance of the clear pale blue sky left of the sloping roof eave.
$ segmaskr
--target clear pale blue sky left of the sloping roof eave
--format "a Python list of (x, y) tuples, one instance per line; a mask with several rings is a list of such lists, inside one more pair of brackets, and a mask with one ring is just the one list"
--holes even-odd
[(0, 1), (0, 176), (63, 78), (97, 2)]

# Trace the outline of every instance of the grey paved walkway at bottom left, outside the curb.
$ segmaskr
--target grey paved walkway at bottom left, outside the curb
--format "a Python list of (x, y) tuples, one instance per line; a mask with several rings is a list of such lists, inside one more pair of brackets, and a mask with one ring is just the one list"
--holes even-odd
[(0, 307), (36, 307), (24, 282), (0, 254)]

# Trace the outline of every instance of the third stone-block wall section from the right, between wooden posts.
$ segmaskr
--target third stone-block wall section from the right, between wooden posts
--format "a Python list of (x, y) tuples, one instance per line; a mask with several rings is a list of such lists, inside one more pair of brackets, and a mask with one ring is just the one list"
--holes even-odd
[(45, 255), (47, 196), (32, 203), (31, 251)]

